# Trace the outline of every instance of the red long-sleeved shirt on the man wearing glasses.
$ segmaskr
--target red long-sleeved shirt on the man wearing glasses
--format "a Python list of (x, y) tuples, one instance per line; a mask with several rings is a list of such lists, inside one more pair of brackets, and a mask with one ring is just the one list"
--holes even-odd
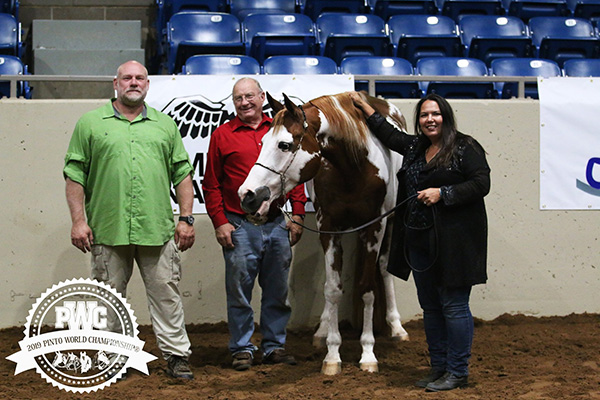
[[(262, 137), (271, 127), (272, 121), (263, 114), (260, 125), (254, 129), (236, 116), (212, 133), (202, 190), (206, 211), (215, 228), (228, 222), (225, 211), (245, 214), (237, 191), (258, 159)], [(287, 198), (292, 204), (292, 214), (304, 215), (304, 185), (291, 190)], [(281, 198), (279, 204), (284, 202)]]

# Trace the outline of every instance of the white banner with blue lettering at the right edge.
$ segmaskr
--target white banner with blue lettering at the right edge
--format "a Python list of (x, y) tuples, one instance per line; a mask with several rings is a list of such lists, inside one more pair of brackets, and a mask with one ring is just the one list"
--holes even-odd
[(539, 78), (540, 208), (600, 209), (600, 79)]

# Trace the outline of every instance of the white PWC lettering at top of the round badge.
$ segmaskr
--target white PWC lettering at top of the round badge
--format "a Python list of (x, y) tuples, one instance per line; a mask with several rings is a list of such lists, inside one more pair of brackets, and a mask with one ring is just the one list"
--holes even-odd
[(56, 306), (56, 329), (91, 330), (106, 329), (106, 307), (98, 306), (97, 301), (65, 301), (63, 306)]

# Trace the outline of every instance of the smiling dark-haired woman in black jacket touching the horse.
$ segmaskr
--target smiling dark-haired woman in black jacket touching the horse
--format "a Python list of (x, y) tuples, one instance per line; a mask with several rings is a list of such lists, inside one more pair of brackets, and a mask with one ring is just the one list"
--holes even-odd
[(430, 94), (415, 108), (416, 135), (396, 129), (361, 94), (351, 92), (371, 131), (404, 156), (388, 271), (407, 280), (411, 271), (423, 309), (431, 358), (429, 375), (416, 383), (428, 391), (468, 384), (473, 341), (471, 287), (487, 280), (487, 216), (490, 190), (485, 151), (456, 129), (454, 113)]

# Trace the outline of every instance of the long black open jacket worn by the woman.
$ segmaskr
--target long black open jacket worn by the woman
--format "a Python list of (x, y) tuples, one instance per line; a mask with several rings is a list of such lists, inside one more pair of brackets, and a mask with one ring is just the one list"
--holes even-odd
[[(368, 118), (371, 131), (391, 150), (404, 156), (397, 173), (397, 204), (408, 197), (406, 170), (430, 145), (425, 135), (398, 131), (380, 114)], [(458, 146), (450, 167), (437, 167), (420, 180), (417, 190), (441, 188), (442, 199), (435, 207), (436, 262), (440, 284), (446, 287), (471, 286), (487, 280), (487, 215), (483, 197), (490, 191), (490, 168), (485, 151), (473, 138), (458, 133)], [(411, 268), (405, 258), (406, 205), (394, 216), (394, 230), (388, 271), (407, 280)]]

